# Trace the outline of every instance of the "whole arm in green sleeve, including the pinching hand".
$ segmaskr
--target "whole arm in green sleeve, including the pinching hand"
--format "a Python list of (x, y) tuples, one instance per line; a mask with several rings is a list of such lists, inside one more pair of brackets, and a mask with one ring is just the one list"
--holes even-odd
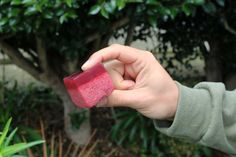
[(182, 86), (150, 52), (127, 46), (94, 53), (82, 69), (99, 62), (105, 62), (116, 88), (100, 107), (133, 108), (155, 119), (156, 128), (169, 136), (236, 155), (236, 91), (225, 91), (220, 83)]

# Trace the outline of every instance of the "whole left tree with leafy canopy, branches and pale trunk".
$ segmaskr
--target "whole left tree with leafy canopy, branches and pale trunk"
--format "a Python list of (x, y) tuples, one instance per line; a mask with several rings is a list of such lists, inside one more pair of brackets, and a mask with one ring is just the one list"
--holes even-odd
[[(108, 45), (111, 37), (125, 35), (126, 45), (145, 40), (157, 19), (173, 19), (186, 6), (195, 8), (203, 2), (0, 0), (0, 49), (14, 64), (53, 88), (63, 102), (67, 134), (84, 143), (86, 138), (81, 137), (88, 137), (84, 128), (89, 125), (83, 123), (79, 132), (72, 129), (69, 115), (75, 108), (62, 78), (78, 71), (92, 52)], [(119, 33), (120, 29), (124, 33)]]

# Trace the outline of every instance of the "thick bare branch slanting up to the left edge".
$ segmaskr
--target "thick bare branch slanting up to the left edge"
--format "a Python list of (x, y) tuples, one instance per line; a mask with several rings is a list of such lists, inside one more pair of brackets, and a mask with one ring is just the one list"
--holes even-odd
[(0, 50), (7, 54), (14, 64), (39, 79), (40, 71), (28, 59), (26, 59), (17, 49), (13, 48), (4, 41), (0, 41)]

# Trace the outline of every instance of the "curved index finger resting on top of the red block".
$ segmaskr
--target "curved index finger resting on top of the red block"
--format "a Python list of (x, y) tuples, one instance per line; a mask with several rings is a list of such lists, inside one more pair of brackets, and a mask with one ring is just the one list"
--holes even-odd
[(86, 70), (93, 67), (97, 63), (112, 59), (119, 60), (124, 64), (131, 64), (137, 60), (137, 56), (140, 55), (139, 52), (141, 52), (141, 50), (115, 44), (95, 52), (89, 60), (84, 63), (82, 69)]

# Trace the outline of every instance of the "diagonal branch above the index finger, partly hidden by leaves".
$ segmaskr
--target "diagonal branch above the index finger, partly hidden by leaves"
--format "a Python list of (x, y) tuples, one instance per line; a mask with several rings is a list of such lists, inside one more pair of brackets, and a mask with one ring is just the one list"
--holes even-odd
[[(113, 31), (123, 25), (126, 25), (127, 23), (129, 22), (129, 18), (128, 17), (124, 17), (124, 18), (121, 18), (120, 20), (118, 21), (115, 21), (111, 27), (110, 27), (110, 30)], [(97, 38), (99, 38), (102, 34), (100, 34), (99, 32), (95, 32), (91, 35), (89, 35), (86, 39), (85, 39), (85, 44), (87, 43), (90, 43), (94, 40), (96, 40)]]

